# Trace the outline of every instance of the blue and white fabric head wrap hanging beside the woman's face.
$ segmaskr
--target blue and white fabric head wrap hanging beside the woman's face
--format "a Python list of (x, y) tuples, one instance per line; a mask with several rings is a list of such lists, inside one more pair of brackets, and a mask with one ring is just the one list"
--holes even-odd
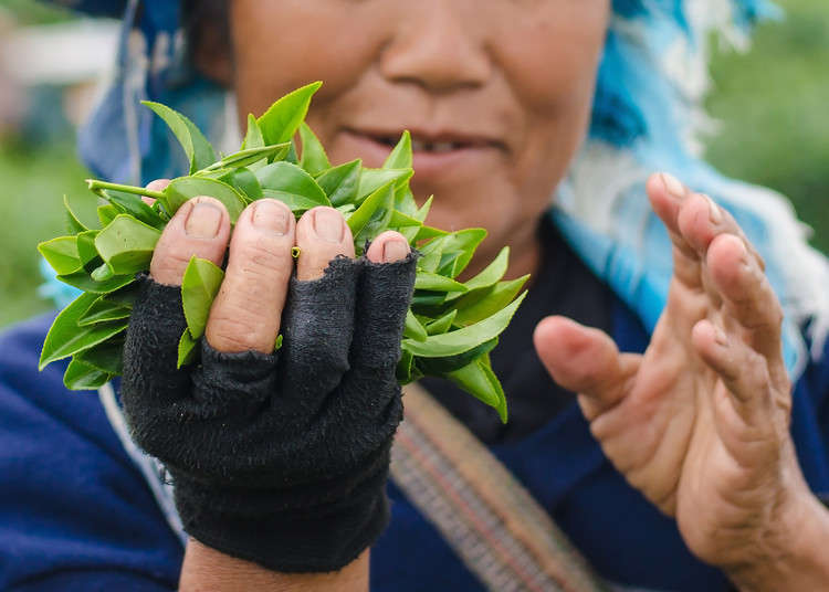
[[(187, 114), (220, 147), (239, 139), (232, 96), (185, 60), (179, 2), (62, 0), (93, 14), (122, 14), (114, 78), (81, 130), (83, 160), (102, 178), (145, 183), (186, 171), (164, 124), (139, 106), (159, 101)], [(779, 12), (766, 0), (613, 0), (590, 133), (550, 210), (594, 272), (652, 329), (671, 277), (668, 234), (644, 180), (675, 175), (726, 208), (767, 263), (784, 307), (784, 352), (793, 377), (819, 357), (829, 334), (829, 264), (781, 195), (727, 179), (700, 158), (709, 36), (745, 45), (752, 25)]]

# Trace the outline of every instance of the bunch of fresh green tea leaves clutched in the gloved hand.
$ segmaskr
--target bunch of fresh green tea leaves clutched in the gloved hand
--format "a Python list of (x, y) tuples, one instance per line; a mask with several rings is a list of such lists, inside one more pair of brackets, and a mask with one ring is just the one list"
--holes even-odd
[[(504, 247), (481, 273), (459, 279), (486, 231), (445, 232), (424, 223), (432, 198), (418, 207), (409, 188), (413, 171), (408, 133), (380, 169), (364, 167), (359, 159), (333, 166), (304, 123), (318, 87), (319, 83), (302, 87), (261, 117), (251, 115), (241, 149), (222, 157), (185, 116), (145, 103), (180, 141), (190, 172), (164, 191), (90, 180), (102, 203), (97, 228), (82, 222), (64, 199), (72, 234), (41, 243), (39, 250), (57, 278), (83, 294), (52, 325), (41, 369), (72, 357), (64, 382), (75, 390), (98, 388), (120, 374), (136, 276), (149, 268), (161, 231), (176, 211), (190, 198), (211, 195), (227, 207), (234, 223), (249, 203), (274, 198), (296, 216), (317, 205), (336, 208), (351, 230), (358, 255), (386, 230), (403, 234), (422, 256), (406, 319), (399, 382), (445, 378), (506, 421), (504, 391), (492, 371), (490, 351), (526, 295), (518, 293), (527, 277), (503, 281), (510, 254)], [(294, 142), (297, 131), (301, 150)], [(141, 197), (156, 201), (150, 207)], [(223, 271), (206, 260), (193, 257), (187, 267), (181, 294), (188, 326), (179, 342), (179, 367), (197, 362), (196, 345), (222, 278)]]

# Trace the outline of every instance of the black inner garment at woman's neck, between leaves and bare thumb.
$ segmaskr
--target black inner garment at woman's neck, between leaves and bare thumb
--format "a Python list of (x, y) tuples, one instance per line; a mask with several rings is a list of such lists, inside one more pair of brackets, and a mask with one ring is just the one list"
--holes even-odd
[(529, 294), (490, 353), (492, 368), (506, 395), (510, 421), (451, 382), (426, 378), (421, 383), (482, 442), (521, 441), (548, 424), (575, 395), (556, 384), (533, 346), (533, 330), (549, 315), (564, 315), (583, 325), (612, 331), (616, 296), (564, 241), (548, 216), (537, 229), (542, 261), (528, 285)]

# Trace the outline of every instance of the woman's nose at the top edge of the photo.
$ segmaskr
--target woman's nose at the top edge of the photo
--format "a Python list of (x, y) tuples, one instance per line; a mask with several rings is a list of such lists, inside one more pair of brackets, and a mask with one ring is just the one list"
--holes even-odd
[[(483, 85), (492, 62), (481, 34), (481, 0), (413, 0), (398, 20), (397, 34), (380, 60), (390, 82), (416, 84), (431, 93)], [(469, 6), (478, 15), (464, 18)]]

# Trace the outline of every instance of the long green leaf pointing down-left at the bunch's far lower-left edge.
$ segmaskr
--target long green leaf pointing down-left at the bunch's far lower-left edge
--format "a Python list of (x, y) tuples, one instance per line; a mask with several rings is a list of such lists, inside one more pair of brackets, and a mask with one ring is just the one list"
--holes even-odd
[(78, 327), (81, 316), (92, 306), (97, 296), (82, 294), (54, 319), (52, 328), (43, 341), (40, 356), (40, 370), (55, 360), (69, 358), (75, 353), (90, 349), (127, 328), (126, 320)]

